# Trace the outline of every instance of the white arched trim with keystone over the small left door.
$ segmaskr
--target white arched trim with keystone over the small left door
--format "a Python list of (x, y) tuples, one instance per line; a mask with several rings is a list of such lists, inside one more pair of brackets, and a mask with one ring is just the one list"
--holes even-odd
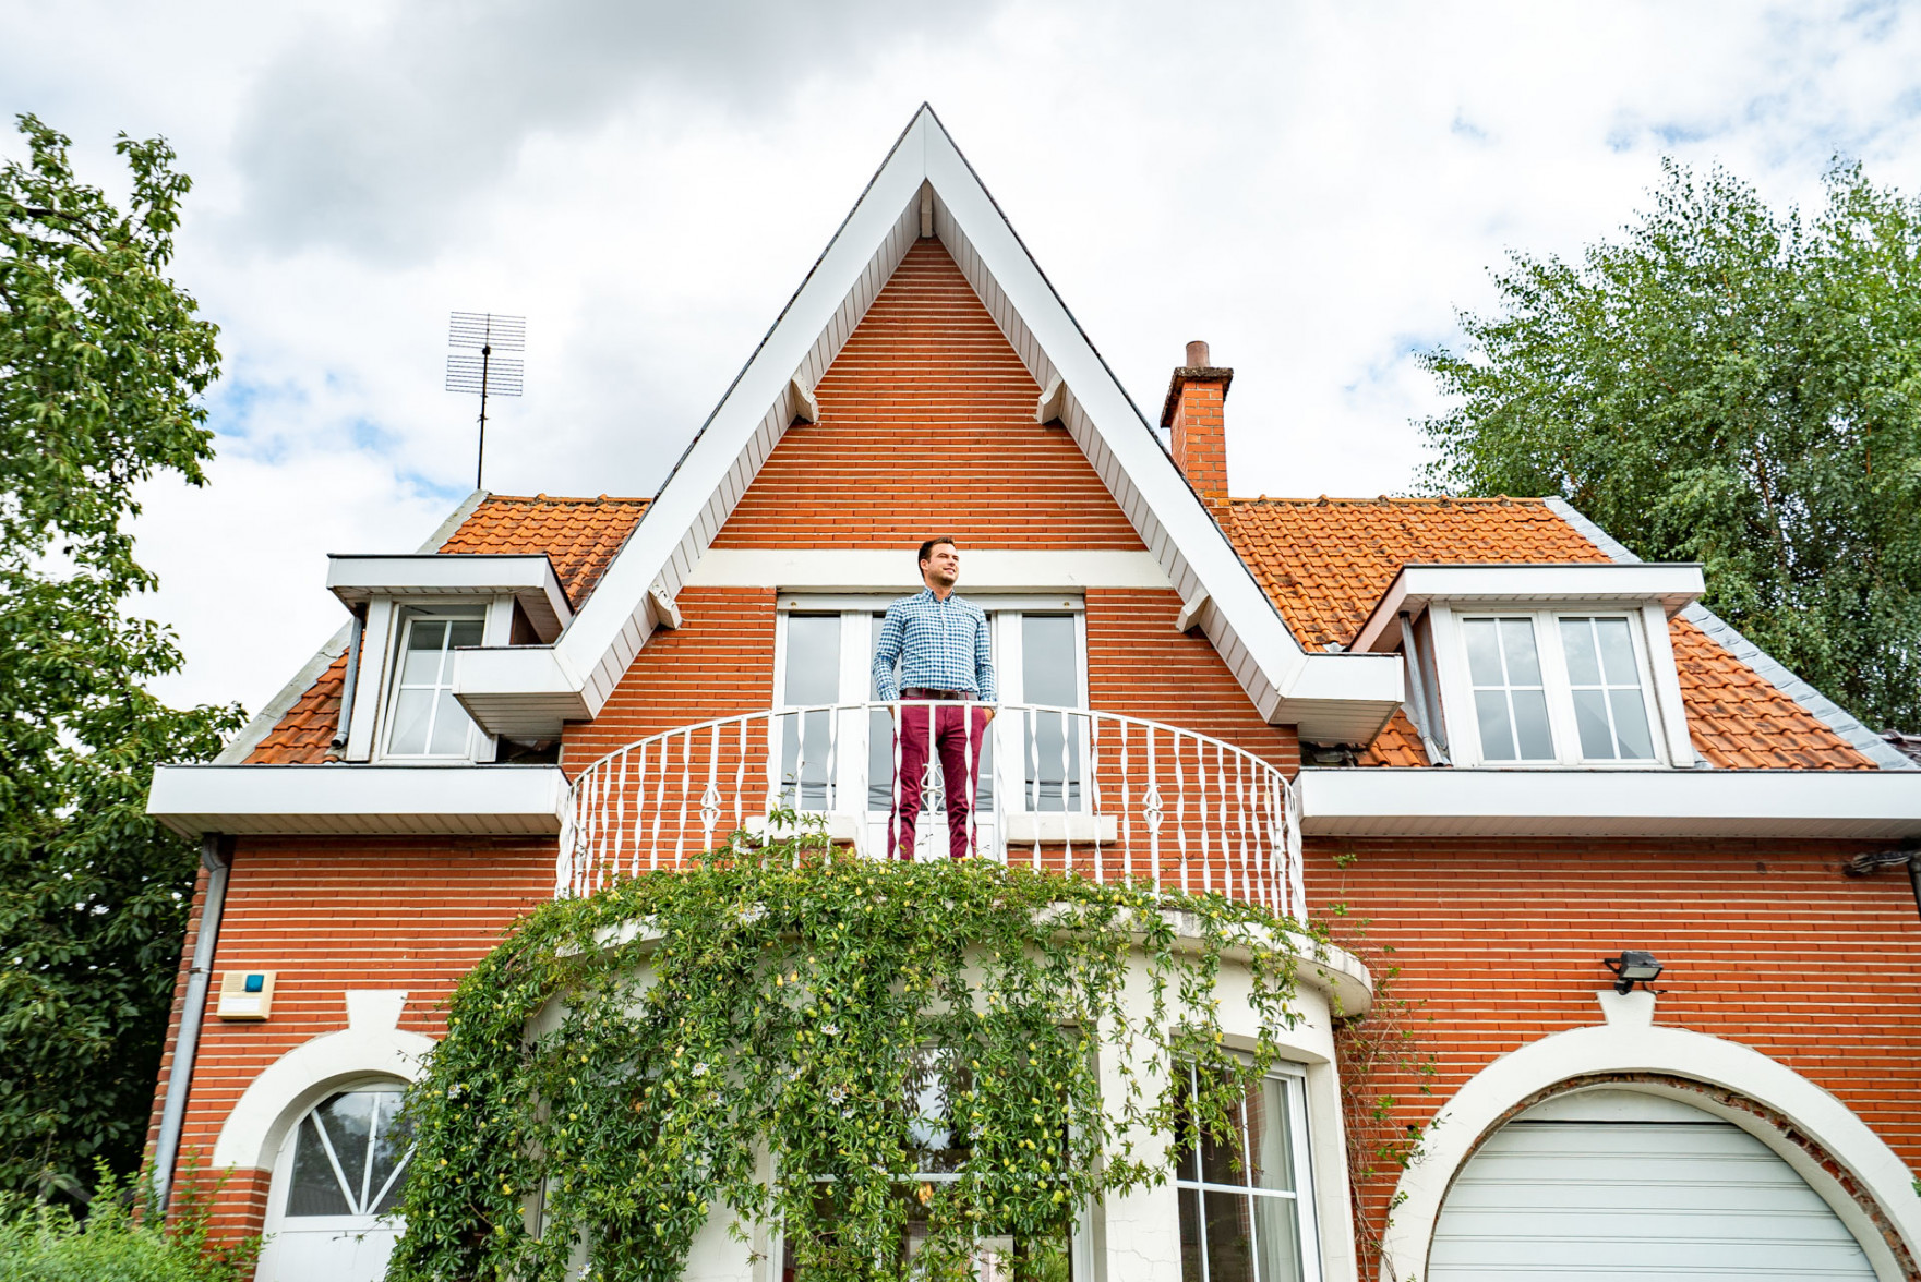
[[(254, 1079), (213, 1144), (213, 1165), (257, 1167), (271, 1171), (288, 1127), (305, 1117), (307, 1109), (344, 1086), (377, 1079), (413, 1082), (421, 1077), (421, 1061), (434, 1048), (434, 1038), (396, 1029), (400, 1002), (405, 994), (348, 994), (350, 1025), (340, 1033), (325, 1033), (311, 1042), (275, 1059)], [(371, 1017), (355, 1019), (361, 1008)], [(392, 1008), (392, 1019), (386, 1019)]]

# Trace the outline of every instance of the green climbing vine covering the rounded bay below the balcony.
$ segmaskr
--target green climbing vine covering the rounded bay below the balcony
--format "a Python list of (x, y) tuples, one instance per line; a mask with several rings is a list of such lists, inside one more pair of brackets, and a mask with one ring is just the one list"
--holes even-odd
[[(1170, 1136), (1228, 1140), (1304, 933), (818, 833), (547, 904), (461, 981), (409, 1090), (388, 1276), (559, 1282), (584, 1255), (669, 1282), (709, 1217), (778, 1228), (805, 1282), (970, 1276), (984, 1240), (1064, 1276), (1082, 1205), (1166, 1178)], [(1229, 952), (1252, 1046), (1218, 1017)], [(1203, 1069), (1193, 1098), (1170, 1063)]]

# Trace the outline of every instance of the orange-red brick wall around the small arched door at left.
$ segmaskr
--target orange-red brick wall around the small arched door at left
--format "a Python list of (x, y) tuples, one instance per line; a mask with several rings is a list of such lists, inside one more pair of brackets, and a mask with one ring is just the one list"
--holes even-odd
[[(194, 931), (202, 892), (194, 906)], [(553, 894), (553, 844), (507, 839), (242, 839), (227, 885), (213, 990), (202, 1025), (181, 1151), (206, 1165), (252, 1080), (288, 1050), (346, 1027), (348, 988), (405, 988), (400, 1027), (438, 1036), (440, 1006), (523, 912)], [(188, 935), (186, 956), (192, 956)], [(227, 971), (277, 971), (273, 1017), (213, 1017)], [(186, 969), (175, 992), (179, 1025)], [(156, 1094), (167, 1092), (173, 1046)], [(234, 1171), (219, 1192), (223, 1232), (259, 1232), (267, 1173)]]

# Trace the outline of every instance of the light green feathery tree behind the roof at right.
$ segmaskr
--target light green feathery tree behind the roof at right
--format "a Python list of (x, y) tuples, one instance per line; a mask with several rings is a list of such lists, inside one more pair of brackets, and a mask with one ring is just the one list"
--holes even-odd
[(1921, 725), (1921, 202), (1835, 167), (1775, 213), (1664, 165), (1577, 263), (1512, 253), (1464, 351), (1423, 357), (1452, 493), (1562, 495), (1881, 727)]

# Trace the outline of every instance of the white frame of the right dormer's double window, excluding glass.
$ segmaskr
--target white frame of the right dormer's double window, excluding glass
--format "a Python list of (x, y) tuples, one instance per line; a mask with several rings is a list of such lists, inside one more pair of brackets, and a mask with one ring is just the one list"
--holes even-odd
[[(1667, 616), (1660, 605), (1556, 603), (1554, 606), (1531, 606), (1506, 601), (1435, 601), (1427, 606), (1427, 614), (1433, 628), (1441, 712), (1447, 720), (1447, 741), (1456, 766), (1485, 766), (1489, 770), (1658, 770), (1694, 764), (1694, 750), (1687, 737), (1687, 712), (1681, 706), (1681, 683), (1675, 674), (1673, 643), (1667, 633)], [(1527, 618), (1533, 622), (1535, 651), (1541, 658), (1541, 681), (1548, 704), (1548, 733), (1554, 741), (1552, 760), (1487, 758), (1481, 747), (1473, 677), (1468, 670), (1468, 639), (1462, 628), (1470, 618)], [(1591, 760), (1581, 756), (1581, 733), (1573, 712), (1573, 683), (1568, 677), (1568, 654), (1562, 649), (1560, 635), (1560, 620), (1564, 618), (1627, 620), (1635, 670), (1641, 681), (1641, 700), (1648, 718), (1652, 758)]]

